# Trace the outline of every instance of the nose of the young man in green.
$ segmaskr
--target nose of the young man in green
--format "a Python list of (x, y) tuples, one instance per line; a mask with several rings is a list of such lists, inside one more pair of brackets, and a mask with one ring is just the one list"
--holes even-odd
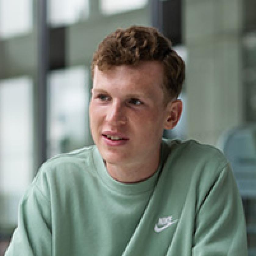
[(109, 106), (106, 121), (112, 125), (120, 125), (127, 122), (125, 106), (123, 106), (122, 102), (113, 101), (113, 103)]

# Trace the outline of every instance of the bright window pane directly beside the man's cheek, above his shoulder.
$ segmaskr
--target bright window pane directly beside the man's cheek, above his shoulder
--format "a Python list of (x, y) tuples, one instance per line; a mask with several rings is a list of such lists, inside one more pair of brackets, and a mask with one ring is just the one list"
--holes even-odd
[(88, 69), (84, 67), (49, 75), (48, 157), (91, 143), (88, 81)]

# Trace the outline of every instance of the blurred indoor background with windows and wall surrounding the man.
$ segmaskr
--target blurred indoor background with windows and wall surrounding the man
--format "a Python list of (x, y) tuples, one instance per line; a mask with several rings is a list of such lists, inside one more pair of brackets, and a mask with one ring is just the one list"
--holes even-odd
[(256, 255), (254, 0), (0, 0), (0, 255), (46, 159), (91, 145), (90, 64), (117, 28), (157, 27), (186, 62), (182, 119), (165, 137), (220, 148)]

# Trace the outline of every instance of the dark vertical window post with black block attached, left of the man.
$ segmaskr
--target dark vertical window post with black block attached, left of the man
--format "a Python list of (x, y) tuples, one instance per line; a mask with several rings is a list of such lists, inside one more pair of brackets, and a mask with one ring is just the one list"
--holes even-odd
[(47, 21), (48, 0), (36, 1), (37, 84), (35, 86), (35, 173), (47, 159), (48, 91), (50, 71), (66, 65), (66, 26), (51, 28)]

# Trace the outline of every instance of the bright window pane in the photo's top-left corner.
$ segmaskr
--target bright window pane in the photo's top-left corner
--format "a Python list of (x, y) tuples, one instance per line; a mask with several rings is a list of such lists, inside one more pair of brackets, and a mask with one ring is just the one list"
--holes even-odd
[(32, 0), (0, 0), (0, 37), (27, 33), (32, 17)]

